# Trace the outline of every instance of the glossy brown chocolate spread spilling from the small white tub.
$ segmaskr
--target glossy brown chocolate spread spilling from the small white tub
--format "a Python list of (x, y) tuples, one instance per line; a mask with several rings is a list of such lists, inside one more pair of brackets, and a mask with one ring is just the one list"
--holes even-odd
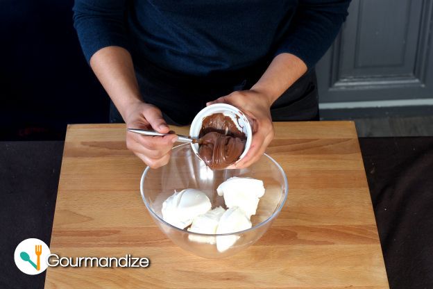
[(201, 145), (198, 154), (212, 170), (222, 170), (235, 163), (245, 149), (245, 133), (222, 113), (203, 119), (199, 138)]

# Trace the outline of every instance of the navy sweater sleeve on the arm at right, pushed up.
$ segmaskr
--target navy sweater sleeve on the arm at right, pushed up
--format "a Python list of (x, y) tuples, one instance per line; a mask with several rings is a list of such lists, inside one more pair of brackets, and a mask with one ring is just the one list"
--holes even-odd
[(291, 53), (314, 67), (337, 37), (350, 0), (300, 0), (275, 55)]

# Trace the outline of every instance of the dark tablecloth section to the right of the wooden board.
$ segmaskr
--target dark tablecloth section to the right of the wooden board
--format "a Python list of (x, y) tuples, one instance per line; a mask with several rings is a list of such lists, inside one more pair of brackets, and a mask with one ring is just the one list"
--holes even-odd
[(359, 139), (391, 288), (433, 288), (433, 138)]

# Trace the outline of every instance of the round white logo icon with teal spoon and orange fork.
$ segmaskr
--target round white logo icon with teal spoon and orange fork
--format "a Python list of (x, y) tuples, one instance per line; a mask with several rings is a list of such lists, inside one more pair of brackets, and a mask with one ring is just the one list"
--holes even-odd
[(48, 267), (46, 256), (49, 254), (51, 254), (50, 249), (42, 240), (26, 239), (20, 242), (15, 249), (15, 264), (26, 274), (40, 274)]

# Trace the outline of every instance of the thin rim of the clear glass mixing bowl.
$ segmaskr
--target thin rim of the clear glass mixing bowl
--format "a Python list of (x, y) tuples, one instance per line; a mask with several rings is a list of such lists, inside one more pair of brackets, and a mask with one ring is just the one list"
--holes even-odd
[[(190, 145), (189, 143), (187, 144), (182, 144), (182, 145), (177, 145), (176, 147), (173, 147), (172, 150), (174, 149), (181, 149), (184, 146)], [(179, 229), (177, 226), (173, 226), (172, 224), (165, 222), (164, 219), (162, 219), (162, 217), (158, 216), (151, 208), (151, 206), (149, 206), (149, 204), (146, 201), (146, 198), (144, 197), (144, 192), (143, 192), (143, 185), (144, 185), (144, 178), (148, 172), (148, 170), (151, 170), (151, 167), (147, 166), (146, 169), (144, 169), (144, 172), (142, 174), (142, 179), (140, 181), (140, 192), (142, 195), (142, 199), (144, 202), (144, 205), (146, 205), (146, 208), (149, 212), (151, 212), (151, 214), (160, 222), (162, 222), (163, 224), (169, 226), (171, 229), (174, 229), (176, 231), (179, 231), (181, 233), (188, 233), (191, 235), (195, 235), (195, 236), (206, 236), (206, 237), (217, 237), (217, 236), (231, 236), (231, 235), (239, 235), (241, 233), (246, 233), (248, 231), (253, 231), (257, 228), (260, 228), (261, 226), (264, 226), (265, 224), (271, 222), (282, 210), (282, 207), (285, 205), (286, 201), (287, 201), (287, 195), (289, 193), (289, 185), (287, 183), (287, 176), (285, 174), (285, 171), (282, 170), (282, 167), (273, 159), (271, 158), (271, 156), (269, 156), (268, 154), (263, 154), (263, 156), (265, 156), (266, 158), (269, 158), (269, 160), (272, 161), (272, 163), (274, 165), (276, 165), (276, 167), (278, 168), (278, 171), (282, 174), (283, 179), (284, 179), (284, 183), (285, 183), (285, 192), (284, 192), (284, 199), (282, 200), (282, 203), (280, 204), (280, 206), (278, 206), (278, 208), (275, 210), (275, 212), (273, 212), (273, 214), (271, 216), (269, 216), (266, 220), (264, 220), (263, 222), (260, 222), (259, 224), (252, 226), (249, 229), (243, 230), (243, 231), (237, 231), (237, 232), (233, 232), (233, 233), (223, 233), (223, 234), (205, 234), (205, 233), (196, 233), (196, 232), (191, 232), (191, 231), (187, 231), (185, 229)]]

